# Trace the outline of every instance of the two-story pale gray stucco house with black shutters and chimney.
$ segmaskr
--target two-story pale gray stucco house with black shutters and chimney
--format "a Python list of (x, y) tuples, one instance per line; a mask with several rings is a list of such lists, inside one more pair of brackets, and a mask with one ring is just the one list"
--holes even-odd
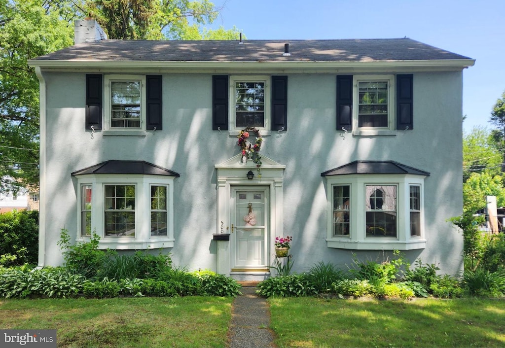
[(468, 57), (409, 38), (109, 40), (83, 20), (75, 45), (29, 64), (40, 266), (62, 263), (67, 228), (236, 279), (268, 277), (286, 235), (297, 272), (394, 250), (463, 267), (447, 219), (463, 204)]

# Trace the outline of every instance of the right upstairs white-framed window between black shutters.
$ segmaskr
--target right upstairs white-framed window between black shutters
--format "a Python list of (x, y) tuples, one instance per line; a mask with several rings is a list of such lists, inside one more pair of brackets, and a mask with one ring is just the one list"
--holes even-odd
[(389, 131), (395, 128), (393, 75), (354, 75), (353, 127), (358, 131)]

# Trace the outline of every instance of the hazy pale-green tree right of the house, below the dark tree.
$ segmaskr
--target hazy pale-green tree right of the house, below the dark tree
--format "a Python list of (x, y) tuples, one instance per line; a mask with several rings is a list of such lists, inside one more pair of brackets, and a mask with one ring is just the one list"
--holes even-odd
[(474, 127), (463, 136), (463, 181), (472, 173), (488, 172), (497, 175), (502, 163), (501, 152), (491, 134), (484, 127)]

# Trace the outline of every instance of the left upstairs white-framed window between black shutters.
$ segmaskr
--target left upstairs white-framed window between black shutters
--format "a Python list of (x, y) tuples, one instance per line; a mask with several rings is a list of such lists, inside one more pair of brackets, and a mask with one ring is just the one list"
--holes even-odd
[(104, 75), (104, 81), (105, 129), (145, 130), (145, 75)]

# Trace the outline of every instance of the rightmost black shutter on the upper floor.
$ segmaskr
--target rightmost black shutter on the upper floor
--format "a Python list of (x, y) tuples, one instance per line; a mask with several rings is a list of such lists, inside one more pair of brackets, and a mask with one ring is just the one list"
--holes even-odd
[(396, 75), (396, 129), (414, 129), (414, 75)]

